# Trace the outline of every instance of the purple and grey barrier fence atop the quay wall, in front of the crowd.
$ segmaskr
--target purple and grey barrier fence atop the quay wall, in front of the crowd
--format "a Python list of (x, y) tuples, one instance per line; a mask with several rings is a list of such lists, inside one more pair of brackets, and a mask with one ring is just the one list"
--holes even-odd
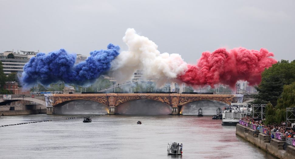
[(261, 133), (261, 134), (270, 135), (270, 137), (273, 136), (273, 138), (275, 138), (275, 139), (278, 139), (280, 141), (285, 141), (287, 144), (295, 146), (295, 138), (286, 137), (283, 133), (269, 131), (266, 128), (263, 128), (262, 126), (260, 126), (258, 124), (250, 124), (249, 122), (246, 122), (243, 120), (240, 120), (239, 124), (246, 126), (246, 127), (250, 127), (253, 130), (259, 130), (259, 133)]

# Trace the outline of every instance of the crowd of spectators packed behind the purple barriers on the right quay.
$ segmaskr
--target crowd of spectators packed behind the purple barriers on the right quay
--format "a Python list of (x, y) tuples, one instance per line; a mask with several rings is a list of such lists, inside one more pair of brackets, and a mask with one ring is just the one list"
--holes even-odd
[[(265, 125), (263, 124), (262, 120), (255, 121), (252, 117), (249, 117), (249, 116), (243, 117), (241, 118), (241, 120), (249, 122), (250, 124), (259, 125), (258, 130), (263, 127), (263, 128), (266, 128), (269, 132), (270, 131), (279, 132), (283, 134), (285, 137), (295, 138), (295, 132), (291, 128), (287, 128), (286, 122), (282, 122), (280, 124), (274, 123), (274, 124)], [(291, 125), (291, 123), (289, 123), (288, 125)]]

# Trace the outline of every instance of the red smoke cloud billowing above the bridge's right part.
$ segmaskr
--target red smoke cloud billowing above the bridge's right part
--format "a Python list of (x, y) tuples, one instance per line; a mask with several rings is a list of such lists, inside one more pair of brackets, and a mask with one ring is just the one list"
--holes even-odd
[(219, 48), (214, 52), (203, 52), (197, 65), (188, 65), (184, 75), (179, 80), (190, 85), (225, 84), (231, 88), (239, 80), (248, 81), (250, 85), (259, 84), (261, 73), (265, 68), (271, 67), (277, 61), (272, 52), (261, 48), (260, 51), (246, 48), (235, 48), (226, 51)]

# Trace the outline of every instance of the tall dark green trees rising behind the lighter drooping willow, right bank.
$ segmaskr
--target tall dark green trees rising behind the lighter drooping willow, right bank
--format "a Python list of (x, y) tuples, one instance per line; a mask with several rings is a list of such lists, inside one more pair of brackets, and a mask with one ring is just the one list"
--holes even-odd
[(277, 99), (283, 92), (285, 84), (291, 84), (295, 81), (295, 60), (290, 62), (281, 60), (274, 64), (272, 67), (265, 69), (262, 72), (262, 81), (256, 87), (259, 92), (255, 98), (260, 99), (254, 101), (258, 102), (271, 102), (274, 106), (277, 104)]

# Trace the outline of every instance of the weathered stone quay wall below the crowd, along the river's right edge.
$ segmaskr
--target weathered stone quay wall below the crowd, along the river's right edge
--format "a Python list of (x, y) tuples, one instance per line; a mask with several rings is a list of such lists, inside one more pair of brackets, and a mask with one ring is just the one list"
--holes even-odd
[(236, 134), (280, 159), (295, 159), (295, 147), (286, 146), (286, 150), (283, 150), (285, 141), (272, 139), (270, 135), (254, 133), (254, 130), (241, 124), (237, 124)]

